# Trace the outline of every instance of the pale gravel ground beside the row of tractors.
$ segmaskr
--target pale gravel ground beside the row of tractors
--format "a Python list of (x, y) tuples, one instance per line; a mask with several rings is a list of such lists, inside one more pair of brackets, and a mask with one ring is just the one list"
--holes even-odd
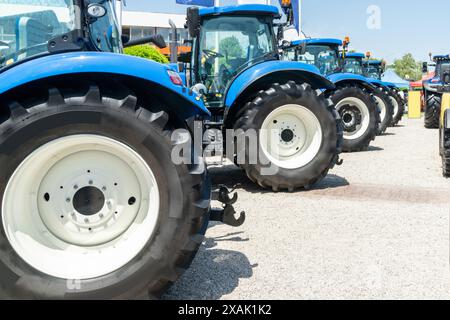
[[(438, 131), (404, 120), (315, 190), (272, 193), (236, 167), (240, 228), (211, 223), (166, 299), (449, 299), (450, 180)], [(232, 181), (232, 182), (231, 182)]]

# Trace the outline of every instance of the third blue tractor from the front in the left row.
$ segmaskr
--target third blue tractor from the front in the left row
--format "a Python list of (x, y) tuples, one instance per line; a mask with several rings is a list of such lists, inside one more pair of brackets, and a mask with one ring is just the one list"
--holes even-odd
[(375, 139), (380, 112), (374, 98), (376, 88), (361, 75), (344, 73), (339, 39), (304, 39), (284, 43), (284, 59), (316, 66), (335, 84), (323, 92), (333, 101), (344, 126), (343, 150), (367, 150)]

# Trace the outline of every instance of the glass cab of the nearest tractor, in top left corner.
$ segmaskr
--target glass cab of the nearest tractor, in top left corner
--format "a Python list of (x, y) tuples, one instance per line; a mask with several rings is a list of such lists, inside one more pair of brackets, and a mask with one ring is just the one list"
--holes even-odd
[(0, 69), (52, 53), (122, 50), (113, 1), (5, 0), (0, 26)]

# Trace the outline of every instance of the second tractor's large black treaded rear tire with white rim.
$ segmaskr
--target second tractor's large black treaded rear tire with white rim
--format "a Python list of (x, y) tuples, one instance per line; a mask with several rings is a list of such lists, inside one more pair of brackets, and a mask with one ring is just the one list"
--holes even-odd
[[(290, 120), (284, 121), (283, 115), (287, 113), (290, 108), (294, 114), (302, 110), (302, 116), (295, 116), (289, 118), (293, 122), (289, 125)], [(280, 115), (279, 121), (277, 120)], [(290, 116), (289, 116), (290, 117)], [(270, 120), (272, 119), (273, 120)], [(300, 122), (296, 122), (300, 121)], [(302, 122), (303, 121), (303, 122)], [(285, 162), (275, 163), (274, 158), (270, 159), (272, 153), (262, 151), (264, 144), (262, 140), (261, 130), (263, 124), (267, 123), (269, 126), (273, 124), (279, 132), (276, 143), (286, 144), (289, 152), (294, 154), (294, 163), (298, 165), (285, 165)], [(320, 131), (302, 131), (298, 127), (307, 125), (312, 128), (314, 123), (320, 126)], [(297, 128), (297, 131), (295, 130)], [(305, 127), (306, 128), (306, 127)], [(240, 166), (245, 170), (247, 176), (259, 186), (263, 188), (272, 189), (273, 191), (295, 189), (310, 189), (314, 184), (322, 180), (339, 162), (339, 154), (342, 151), (342, 127), (339, 114), (333, 107), (333, 103), (311, 88), (310, 85), (297, 84), (294, 81), (289, 81), (285, 84), (273, 84), (267, 90), (260, 91), (255, 98), (249, 101), (243, 111), (238, 115), (237, 121), (234, 124), (234, 129), (241, 131), (242, 134), (248, 132), (257, 132), (257, 146), (259, 156), (257, 161), (252, 162), (250, 151), (251, 148), (245, 146), (237, 146), (237, 159), (240, 155), (245, 156), (245, 161), (241, 161)], [(306, 129), (305, 129), (306, 130)], [(267, 130), (266, 130), (267, 131)], [(300, 139), (310, 139), (316, 137), (319, 143), (304, 144), (301, 147), (295, 148), (296, 143)], [(309, 140), (308, 140), (309, 141)], [(292, 146), (292, 147), (291, 147)], [(300, 164), (301, 157), (304, 152), (311, 151), (317, 147), (317, 152), (312, 152), (311, 159), (306, 163)], [(292, 148), (292, 149), (289, 149)], [(267, 149), (268, 150), (268, 149)], [(300, 157), (300, 158), (297, 158)], [(282, 157), (275, 158), (277, 160)], [(276, 161), (277, 161), (276, 160)], [(303, 158), (303, 160), (305, 160)], [(244, 163), (242, 163), (244, 162)], [(270, 167), (271, 173), (266, 174), (264, 169)], [(275, 172), (275, 173), (273, 173)]]

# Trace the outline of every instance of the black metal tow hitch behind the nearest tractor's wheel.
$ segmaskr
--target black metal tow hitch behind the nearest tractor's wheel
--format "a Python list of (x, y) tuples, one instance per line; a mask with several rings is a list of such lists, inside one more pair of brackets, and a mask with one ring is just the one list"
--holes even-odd
[(218, 189), (212, 191), (212, 200), (219, 201), (223, 204), (222, 208), (212, 208), (210, 213), (210, 221), (223, 222), (232, 227), (239, 227), (245, 222), (245, 212), (242, 211), (239, 218), (236, 219), (233, 204), (238, 200), (238, 194), (235, 192), (231, 197), (230, 194), (234, 192), (228, 190), (225, 186), (220, 186)]

